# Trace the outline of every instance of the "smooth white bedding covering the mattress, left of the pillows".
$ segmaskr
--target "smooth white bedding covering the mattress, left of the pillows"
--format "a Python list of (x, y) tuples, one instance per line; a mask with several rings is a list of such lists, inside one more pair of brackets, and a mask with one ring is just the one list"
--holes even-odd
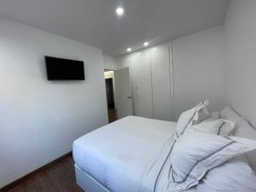
[[(111, 192), (153, 192), (177, 123), (129, 116), (73, 143), (75, 163)], [(190, 189), (189, 192), (194, 192)]]

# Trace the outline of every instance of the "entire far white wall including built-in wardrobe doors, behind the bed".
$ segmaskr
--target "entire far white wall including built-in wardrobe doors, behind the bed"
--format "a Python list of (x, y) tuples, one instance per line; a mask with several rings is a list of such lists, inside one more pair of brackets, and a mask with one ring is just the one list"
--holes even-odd
[(116, 60), (130, 67), (136, 115), (177, 120), (202, 99), (211, 101), (211, 111), (225, 106), (223, 26)]

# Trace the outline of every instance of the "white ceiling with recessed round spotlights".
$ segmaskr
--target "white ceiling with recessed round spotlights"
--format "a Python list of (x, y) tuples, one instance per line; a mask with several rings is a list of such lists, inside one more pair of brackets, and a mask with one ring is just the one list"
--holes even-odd
[[(221, 24), (230, 0), (1, 0), (0, 16), (93, 45), (108, 55)], [(125, 15), (115, 9), (122, 6)]]

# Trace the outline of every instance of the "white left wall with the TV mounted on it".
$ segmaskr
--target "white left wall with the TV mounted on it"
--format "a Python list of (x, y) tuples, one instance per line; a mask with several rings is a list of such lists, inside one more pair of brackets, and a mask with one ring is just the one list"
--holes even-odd
[[(108, 123), (102, 50), (0, 19), (0, 188)], [(85, 81), (47, 81), (44, 55), (84, 61)]]

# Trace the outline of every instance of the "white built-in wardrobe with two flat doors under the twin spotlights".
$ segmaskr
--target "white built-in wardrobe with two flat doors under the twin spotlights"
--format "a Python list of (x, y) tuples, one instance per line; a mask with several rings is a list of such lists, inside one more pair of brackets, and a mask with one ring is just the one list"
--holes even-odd
[(172, 45), (162, 44), (124, 59), (130, 68), (133, 113), (172, 120)]

